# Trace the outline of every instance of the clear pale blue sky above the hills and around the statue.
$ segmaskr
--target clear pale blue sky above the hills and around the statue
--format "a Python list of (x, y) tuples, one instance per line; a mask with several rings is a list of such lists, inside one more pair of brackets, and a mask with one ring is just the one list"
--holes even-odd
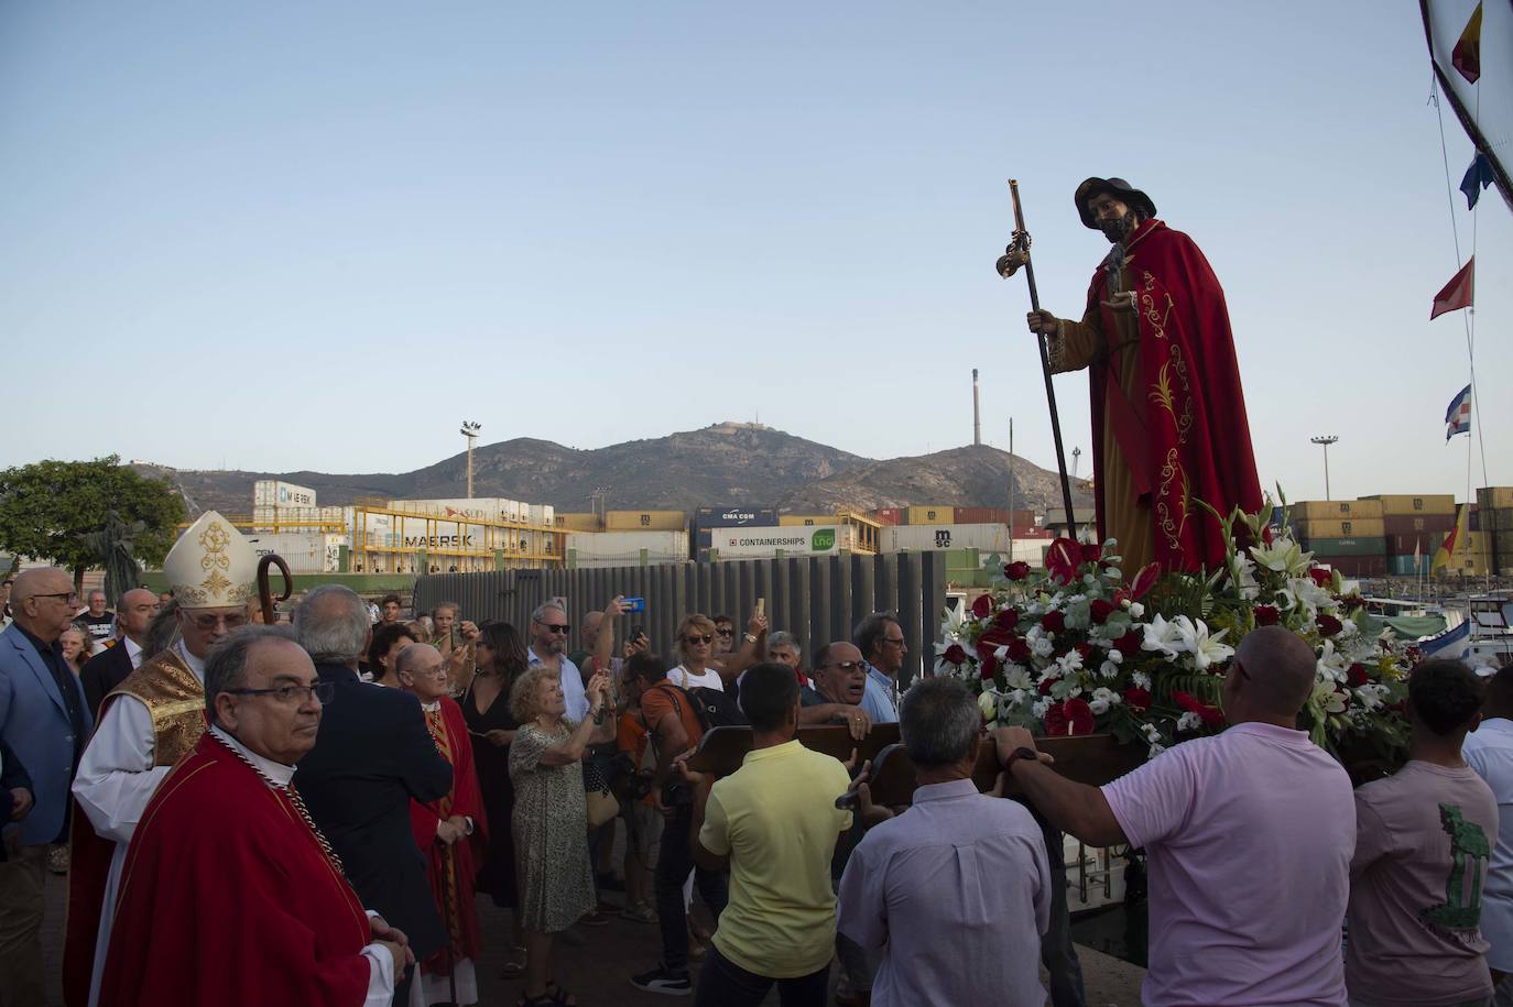
[[(1418, 6), (1050, 6), (6, 3), (0, 464), (409, 470), (461, 419), (596, 448), (758, 414), (893, 457), (970, 442), (976, 366), (986, 438), (1014, 416), (1050, 467), (1005, 180), (1074, 314), (1106, 243), (1071, 191), (1120, 174), (1224, 283), (1263, 482), (1322, 496), (1334, 432), (1336, 496), (1463, 497)], [(1510, 484), (1513, 216), (1480, 209)], [(1058, 395), (1086, 451), (1085, 376)]]

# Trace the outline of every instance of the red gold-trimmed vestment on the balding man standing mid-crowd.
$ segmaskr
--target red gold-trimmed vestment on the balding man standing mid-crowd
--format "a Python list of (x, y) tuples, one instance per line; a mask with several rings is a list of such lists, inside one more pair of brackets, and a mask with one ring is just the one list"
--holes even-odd
[[(474, 903), (474, 883), (483, 866), (483, 851), (487, 845), (487, 812), (483, 807), (483, 792), (478, 788), (478, 773), (474, 770), (472, 738), (461, 708), (445, 696), (440, 708), (425, 714), (425, 726), (436, 741), (436, 748), (452, 764), (452, 792), (437, 801), (421, 804), (410, 801), (410, 829), (415, 845), (425, 856), (425, 874), (431, 880), (431, 895), (436, 910), (446, 922), (451, 936), (452, 960), (478, 960), (483, 942), (478, 936), (478, 912)], [(474, 835), (466, 842), (446, 845), (437, 842), (436, 826), (452, 815), (474, 820)], [(437, 951), (421, 963), (431, 974), (446, 975), (446, 951)]]

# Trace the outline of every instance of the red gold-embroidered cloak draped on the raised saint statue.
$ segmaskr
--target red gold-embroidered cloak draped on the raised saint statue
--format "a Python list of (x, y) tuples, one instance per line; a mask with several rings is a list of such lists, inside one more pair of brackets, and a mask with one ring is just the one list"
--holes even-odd
[[(1216, 570), (1226, 556), (1223, 528), (1198, 500), (1224, 516), (1262, 504), (1224, 289), (1192, 239), (1160, 221), (1141, 222), (1126, 254), (1139, 305), (1144, 395), (1130, 402), (1108, 360), (1092, 364), (1094, 470), (1103, 470), (1103, 420), (1112, 410), (1124, 457), (1138, 469), (1135, 484), (1150, 494), (1160, 569)], [(1103, 331), (1115, 333), (1114, 311), (1098, 307), (1108, 299), (1100, 268), (1088, 310), (1098, 308)], [(1104, 528), (1098, 494), (1100, 537)]]

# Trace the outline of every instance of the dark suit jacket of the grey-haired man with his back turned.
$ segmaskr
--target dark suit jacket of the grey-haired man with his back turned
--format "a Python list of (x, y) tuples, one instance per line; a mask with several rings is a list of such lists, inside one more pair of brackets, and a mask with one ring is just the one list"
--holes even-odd
[(295, 789), (363, 907), (409, 934), (424, 960), (446, 945), (446, 931), (410, 832), (410, 800), (446, 795), (452, 764), (436, 750), (412, 694), (362, 682), (342, 665), (315, 670), (336, 685), (336, 696), (321, 714), (315, 748), (300, 759)]

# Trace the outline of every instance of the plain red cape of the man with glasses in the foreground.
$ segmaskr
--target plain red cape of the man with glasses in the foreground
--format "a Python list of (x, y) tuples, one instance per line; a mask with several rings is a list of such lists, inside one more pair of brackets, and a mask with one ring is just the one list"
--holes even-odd
[(100, 1007), (354, 1007), (368, 940), (289, 794), (206, 733), (132, 839)]

